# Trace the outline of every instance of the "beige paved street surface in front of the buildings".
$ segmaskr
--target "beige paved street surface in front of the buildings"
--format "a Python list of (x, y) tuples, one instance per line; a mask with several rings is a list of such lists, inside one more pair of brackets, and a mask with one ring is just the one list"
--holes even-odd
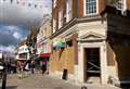
[[(68, 81), (50, 77), (48, 75), (35, 74), (26, 78), (17, 78), (16, 75), (8, 76), (6, 89), (81, 89)], [(88, 89), (118, 89), (108, 86), (89, 86)]]

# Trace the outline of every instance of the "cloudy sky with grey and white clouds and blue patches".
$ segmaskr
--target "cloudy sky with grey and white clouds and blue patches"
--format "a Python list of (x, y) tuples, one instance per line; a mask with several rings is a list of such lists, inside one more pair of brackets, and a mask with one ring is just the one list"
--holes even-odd
[[(11, 2), (12, 1), (12, 2)], [(0, 0), (0, 49), (14, 51), (28, 28), (51, 14), (52, 0)]]

